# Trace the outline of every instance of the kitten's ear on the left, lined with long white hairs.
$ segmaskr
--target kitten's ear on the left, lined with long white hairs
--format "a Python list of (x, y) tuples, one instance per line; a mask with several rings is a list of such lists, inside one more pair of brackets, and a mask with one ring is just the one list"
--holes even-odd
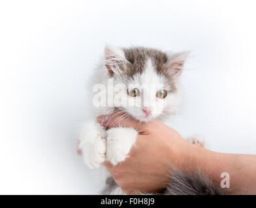
[(110, 76), (113, 76), (116, 73), (122, 73), (128, 62), (125, 59), (125, 54), (122, 49), (118, 47), (111, 47), (110, 45), (105, 46), (104, 59), (104, 64), (108, 69)]

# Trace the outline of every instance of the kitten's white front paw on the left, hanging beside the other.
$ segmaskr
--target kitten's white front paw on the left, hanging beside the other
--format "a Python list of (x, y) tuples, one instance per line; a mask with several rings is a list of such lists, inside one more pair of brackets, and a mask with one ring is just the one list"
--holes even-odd
[(79, 146), (84, 161), (89, 168), (99, 168), (105, 161), (106, 138), (105, 131), (99, 123), (86, 122), (80, 129)]

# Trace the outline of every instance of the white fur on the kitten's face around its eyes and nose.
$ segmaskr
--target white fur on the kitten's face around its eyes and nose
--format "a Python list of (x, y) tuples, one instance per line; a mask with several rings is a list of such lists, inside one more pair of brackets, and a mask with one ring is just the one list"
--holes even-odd
[[(176, 82), (176, 85), (179, 86), (180, 84), (178, 79)], [(151, 59), (148, 59), (144, 72), (142, 72), (141, 75), (136, 75), (129, 83), (133, 84), (131, 85), (131, 88), (138, 88), (138, 90), (140, 90), (140, 96), (136, 99), (133, 97), (128, 97), (127, 99), (141, 103), (141, 106), (127, 107), (125, 110), (129, 112), (129, 114), (133, 115), (137, 120), (150, 122), (150, 120), (154, 118), (160, 119), (159, 116), (162, 117), (162, 119), (167, 118), (178, 111), (182, 100), (180, 87), (178, 92), (175, 94), (172, 93), (166, 78), (157, 75), (155, 72)], [(156, 92), (162, 88), (168, 90), (168, 94), (165, 99), (159, 99), (155, 96)], [(145, 106), (152, 109), (151, 116), (146, 116), (142, 111)], [(165, 112), (163, 114), (163, 110), (168, 111), (168, 113)]]

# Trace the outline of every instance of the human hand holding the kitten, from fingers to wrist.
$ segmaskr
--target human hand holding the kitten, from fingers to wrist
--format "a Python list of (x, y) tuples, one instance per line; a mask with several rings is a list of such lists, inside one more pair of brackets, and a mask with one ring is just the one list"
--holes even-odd
[(159, 192), (170, 182), (173, 166), (180, 169), (191, 166), (190, 153), (194, 145), (186, 142), (177, 131), (156, 120), (139, 123), (133, 119), (127, 121), (120, 118), (121, 115), (110, 120), (99, 116), (97, 121), (106, 129), (121, 125), (138, 131), (135, 146), (125, 161), (116, 166), (104, 162), (123, 192)]

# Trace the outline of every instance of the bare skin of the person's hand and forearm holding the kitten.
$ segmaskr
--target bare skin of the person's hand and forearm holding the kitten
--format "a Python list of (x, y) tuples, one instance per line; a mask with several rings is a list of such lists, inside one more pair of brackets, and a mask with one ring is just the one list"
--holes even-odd
[[(106, 129), (111, 127), (133, 127), (139, 133), (129, 157), (116, 166), (104, 162), (123, 192), (159, 192), (170, 182), (173, 166), (185, 172), (200, 170), (220, 187), (221, 173), (230, 175), (230, 188), (226, 194), (256, 194), (256, 155), (217, 153), (190, 144), (182, 136), (163, 123), (152, 120), (139, 123), (129, 120), (118, 123), (121, 115), (107, 120), (99, 116), (97, 121)], [(78, 149), (78, 155), (82, 152)]]

